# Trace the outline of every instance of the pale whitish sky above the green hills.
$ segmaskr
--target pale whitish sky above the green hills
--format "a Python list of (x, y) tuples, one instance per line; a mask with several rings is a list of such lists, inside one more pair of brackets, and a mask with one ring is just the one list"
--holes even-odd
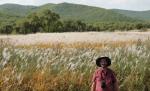
[(124, 9), (134, 11), (150, 10), (150, 0), (0, 0), (0, 4), (15, 3), (21, 5), (43, 5), (46, 3), (74, 3), (96, 6), (106, 9)]

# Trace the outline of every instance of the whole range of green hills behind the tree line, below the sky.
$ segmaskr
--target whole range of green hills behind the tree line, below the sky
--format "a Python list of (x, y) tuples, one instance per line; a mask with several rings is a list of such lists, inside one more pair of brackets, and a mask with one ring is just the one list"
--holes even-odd
[[(143, 18), (133, 17), (134, 15), (123, 13), (118, 10), (108, 10), (104, 8), (91, 7), (86, 5), (61, 3), (61, 4), (45, 4), (42, 6), (24, 6), (17, 4), (4, 4), (0, 5), (0, 20), (15, 20), (28, 14), (41, 11), (44, 9), (50, 9), (53, 12), (60, 15), (61, 19), (75, 19), (82, 20), (88, 23), (95, 22), (134, 22), (139, 20), (147, 20), (149, 18), (148, 13), (136, 13), (135, 16), (142, 16)], [(130, 11), (132, 13), (134, 11)], [(147, 11), (148, 12), (148, 11)], [(150, 11), (149, 11), (150, 12)], [(142, 15), (143, 14), (143, 15)], [(131, 16), (132, 15), (132, 16)], [(146, 18), (145, 18), (146, 17)]]

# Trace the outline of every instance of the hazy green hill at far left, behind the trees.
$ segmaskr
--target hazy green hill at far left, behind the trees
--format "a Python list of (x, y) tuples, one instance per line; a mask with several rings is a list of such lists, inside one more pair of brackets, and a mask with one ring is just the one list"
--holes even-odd
[(0, 24), (10, 23), (27, 16), (32, 13), (36, 6), (24, 6), (18, 4), (3, 4), (0, 5)]

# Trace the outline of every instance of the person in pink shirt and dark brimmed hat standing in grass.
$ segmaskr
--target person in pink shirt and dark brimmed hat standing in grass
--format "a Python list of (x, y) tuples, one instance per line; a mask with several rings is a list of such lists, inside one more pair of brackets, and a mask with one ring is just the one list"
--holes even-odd
[(114, 72), (108, 68), (111, 65), (109, 57), (96, 59), (98, 69), (93, 74), (91, 91), (119, 91)]

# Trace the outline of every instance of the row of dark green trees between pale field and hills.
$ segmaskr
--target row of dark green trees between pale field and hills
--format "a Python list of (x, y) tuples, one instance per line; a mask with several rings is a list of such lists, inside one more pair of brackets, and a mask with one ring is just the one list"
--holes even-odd
[(147, 29), (150, 23), (144, 22), (98, 22), (87, 24), (80, 20), (62, 20), (50, 10), (32, 13), (12, 23), (1, 24), (1, 34), (29, 34), (37, 32), (84, 32)]

